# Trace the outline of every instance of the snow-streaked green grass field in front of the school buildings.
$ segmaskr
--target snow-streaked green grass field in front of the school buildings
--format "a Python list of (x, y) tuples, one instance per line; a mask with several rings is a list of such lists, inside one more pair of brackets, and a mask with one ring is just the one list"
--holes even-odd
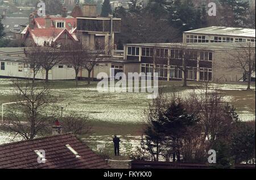
[[(20, 80), (23, 82), (23, 80)], [(40, 83), (40, 82), (39, 82)], [(182, 82), (159, 82), (167, 93), (180, 92), (187, 95), (197, 88), (197, 82), (189, 82), (188, 87), (182, 87)], [(255, 84), (253, 91), (245, 91), (246, 83), (211, 83), (217, 91), (226, 95), (225, 100), (237, 108), (243, 121), (255, 119)], [(73, 81), (50, 82), (52, 94), (59, 98), (59, 105), (64, 106), (64, 115), (70, 111), (89, 114), (93, 134), (85, 140), (96, 148), (98, 143), (106, 142), (111, 148), (111, 136), (122, 136), (124, 145), (133, 140), (139, 140), (145, 126), (143, 110), (147, 108), (147, 93), (99, 93), (97, 82), (87, 85), (79, 82), (75, 87)], [(0, 104), (15, 100), (13, 83), (9, 79), (0, 79)], [(1, 138), (1, 135), (0, 135)], [(133, 142), (133, 144), (136, 144)]]

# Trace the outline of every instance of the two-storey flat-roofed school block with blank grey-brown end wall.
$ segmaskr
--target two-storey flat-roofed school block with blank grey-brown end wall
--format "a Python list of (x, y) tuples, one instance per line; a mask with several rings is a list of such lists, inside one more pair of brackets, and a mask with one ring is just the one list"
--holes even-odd
[[(255, 48), (255, 43), (251, 46)], [(244, 72), (225, 68), (230, 54), (243, 50), (241, 43), (126, 44), (124, 50), (124, 61), (133, 62), (132, 66), (124, 66), (126, 74), (152, 73), (155, 58), (160, 80), (182, 80), (184, 73), (179, 67), (187, 57), (188, 80), (236, 82), (243, 79)]]

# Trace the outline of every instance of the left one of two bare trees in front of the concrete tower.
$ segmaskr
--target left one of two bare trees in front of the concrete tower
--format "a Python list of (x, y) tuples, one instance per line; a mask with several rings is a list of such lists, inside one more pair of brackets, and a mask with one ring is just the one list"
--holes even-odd
[(65, 60), (64, 63), (67, 65), (72, 65), (76, 74), (76, 87), (78, 86), (78, 74), (82, 70), (83, 65), (85, 65), (86, 56), (88, 55), (89, 48), (82, 45), (80, 42), (75, 42), (69, 44), (64, 48)]

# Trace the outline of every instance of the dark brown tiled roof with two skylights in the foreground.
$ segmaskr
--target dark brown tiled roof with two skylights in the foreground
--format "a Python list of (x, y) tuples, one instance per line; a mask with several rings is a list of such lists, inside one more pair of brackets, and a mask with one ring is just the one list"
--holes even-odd
[[(79, 156), (69, 151), (69, 144)], [(38, 163), (35, 150), (44, 149), (46, 163)], [(108, 164), (73, 134), (49, 136), (0, 145), (0, 169), (104, 169)]]

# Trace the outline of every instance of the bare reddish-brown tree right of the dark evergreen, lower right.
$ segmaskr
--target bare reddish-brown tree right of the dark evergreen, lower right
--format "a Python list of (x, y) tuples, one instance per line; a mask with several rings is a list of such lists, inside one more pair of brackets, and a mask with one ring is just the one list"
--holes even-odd
[(196, 113), (203, 132), (202, 140), (207, 140), (207, 148), (212, 147), (216, 139), (227, 138), (232, 117), (226, 112), (224, 95), (218, 93), (208, 82), (199, 85), (187, 98), (188, 110)]

